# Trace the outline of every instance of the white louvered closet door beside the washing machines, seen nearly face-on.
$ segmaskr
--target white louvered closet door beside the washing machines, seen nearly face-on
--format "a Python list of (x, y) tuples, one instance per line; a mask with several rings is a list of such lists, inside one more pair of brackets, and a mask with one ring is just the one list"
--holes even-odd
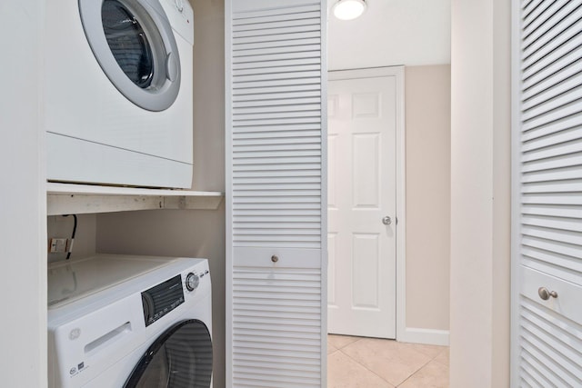
[(325, 2), (226, 1), (226, 384), (326, 385)]

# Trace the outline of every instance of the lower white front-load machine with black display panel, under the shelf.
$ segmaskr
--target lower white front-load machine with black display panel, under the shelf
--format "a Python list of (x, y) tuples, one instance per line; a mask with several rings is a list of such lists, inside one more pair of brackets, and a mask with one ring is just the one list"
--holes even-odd
[(48, 387), (212, 387), (210, 285), (206, 259), (49, 264)]

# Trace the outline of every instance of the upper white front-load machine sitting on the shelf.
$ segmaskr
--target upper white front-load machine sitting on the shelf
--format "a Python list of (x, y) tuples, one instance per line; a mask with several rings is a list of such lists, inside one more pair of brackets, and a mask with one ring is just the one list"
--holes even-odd
[(49, 2), (48, 179), (190, 188), (193, 44), (187, 0)]

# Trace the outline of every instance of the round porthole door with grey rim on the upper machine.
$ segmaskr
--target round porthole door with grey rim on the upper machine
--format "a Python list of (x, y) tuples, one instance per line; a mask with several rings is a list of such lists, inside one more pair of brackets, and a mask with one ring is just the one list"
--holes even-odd
[(157, 0), (79, 0), (85, 36), (105, 75), (132, 103), (169, 108), (180, 89), (180, 57)]

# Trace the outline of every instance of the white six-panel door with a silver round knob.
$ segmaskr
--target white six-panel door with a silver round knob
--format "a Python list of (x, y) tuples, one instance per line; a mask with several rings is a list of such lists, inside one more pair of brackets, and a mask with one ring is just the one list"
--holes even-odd
[[(328, 83), (328, 332), (396, 338), (396, 76)], [(389, 220), (385, 217), (389, 217)]]

